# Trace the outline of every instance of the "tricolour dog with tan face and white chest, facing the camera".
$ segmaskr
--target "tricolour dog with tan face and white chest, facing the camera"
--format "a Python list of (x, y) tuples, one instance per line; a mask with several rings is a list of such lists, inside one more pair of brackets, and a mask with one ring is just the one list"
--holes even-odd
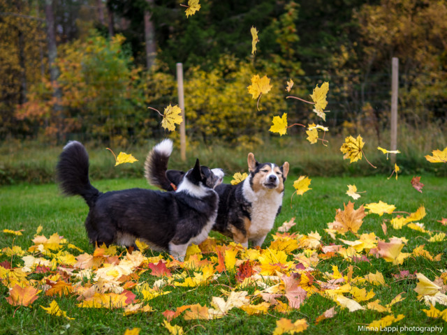
[[(166, 191), (174, 191), (186, 177), (183, 171), (167, 170), (172, 150), (173, 142), (163, 140), (149, 151), (145, 161), (149, 184)], [(219, 194), (219, 210), (212, 229), (242, 246), (247, 247), (249, 241), (261, 246), (281, 211), (289, 165), (287, 162), (282, 166), (259, 163), (252, 153), (248, 154), (247, 162), (247, 179), (237, 185), (221, 184), (215, 188)]]

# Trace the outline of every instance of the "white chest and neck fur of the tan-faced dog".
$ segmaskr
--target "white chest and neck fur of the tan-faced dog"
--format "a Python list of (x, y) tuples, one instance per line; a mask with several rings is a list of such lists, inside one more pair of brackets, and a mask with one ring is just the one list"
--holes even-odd
[(251, 225), (248, 235), (250, 241), (254, 241), (256, 246), (261, 246), (273, 228), (284, 193), (278, 193), (274, 188), (261, 188), (255, 192), (250, 186), (250, 180), (251, 175), (244, 180), (242, 185), (244, 197), (251, 202)]

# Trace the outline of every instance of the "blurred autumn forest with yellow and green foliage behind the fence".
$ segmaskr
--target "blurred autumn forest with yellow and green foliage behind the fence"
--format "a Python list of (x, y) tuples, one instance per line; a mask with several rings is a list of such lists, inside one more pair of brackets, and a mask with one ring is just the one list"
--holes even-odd
[[(177, 103), (177, 62), (187, 135), (205, 142), (256, 142), (282, 112), (314, 121), (312, 107), (286, 100), (291, 78), (302, 97), (330, 83), (331, 133), (380, 137), (392, 57), (400, 124), (446, 128), (446, 0), (201, 0), (189, 17), (180, 4), (0, 0), (0, 140), (126, 145), (166, 135), (147, 107)], [(247, 92), (256, 73), (273, 86), (260, 110)]]

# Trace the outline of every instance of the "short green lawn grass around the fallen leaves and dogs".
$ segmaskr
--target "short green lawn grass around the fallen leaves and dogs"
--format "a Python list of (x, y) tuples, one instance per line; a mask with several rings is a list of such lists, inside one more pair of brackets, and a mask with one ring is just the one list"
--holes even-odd
[[(446, 232), (447, 227), (441, 225), (437, 220), (447, 217), (447, 179), (439, 177), (422, 177), (421, 182), (425, 184), (423, 193), (418, 193), (411, 187), (408, 176), (400, 176), (396, 181), (386, 179), (386, 176), (376, 177), (314, 177), (312, 178), (311, 191), (304, 195), (291, 195), (294, 191), (292, 184), (296, 176), (291, 176), (286, 181), (286, 194), (284, 196), (283, 208), (277, 218), (276, 229), (284, 221), (295, 217), (296, 225), (291, 228), (291, 232), (307, 234), (317, 231), (322, 236), (323, 244), (342, 244), (341, 241), (333, 241), (324, 229), (327, 223), (334, 221), (335, 211), (343, 208), (349, 198), (345, 192), (347, 184), (355, 184), (362, 197), (356, 200), (356, 208), (360, 204), (370, 202), (387, 202), (394, 204), (396, 211), (414, 212), (420, 205), (424, 205), (427, 216), (421, 222), (425, 223), (425, 228), (432, 232)], [(146, 188), (143, 179), (109, 179), (92, 183), (101, 191), (118, 190), (132, 187)], [(0, 262), (11, 261), (13, 266), (23, 265), (20, 257), (8, 257), (1, 253), (1, 250), (10, 246), (21, 246), (26, 249), (33, 245), (31, 239), (39, 225), (43, 226), (43, 234), (49, 237), (54, 232), (63, 235), (75, 246), (82, 248), (87, 253), (93, 253), (94, 248), (88, 243), (87, 234), (83, 226), (87, 215), (87, 205), (81, 198), (64, 198), (60, 195), (57, 186), (54, 184), (29, 185), (20, 184), (15, 186), (2, 186), (0, 192), (0, 230), (24, 230), (22, 236), (14, 236), (0, 232)], [(402, 252), (411, 253), (413, 248), (420, 244), (425, 244), (425, 249), (432, 255), (444, 253), (441, 261), (432, 262), (421, 257), (406, 258), (402, 265), (392, 265), (382, 258), (368, 256), (370, 262), (358, 262), (351, 264), (337, 256), (329, 260), (321, 260), (316, 267), (314, 275), (316, 278), (323, 278), (324, 271), (332, 272), (332, 266), (336, 265), (340, 271), (344, 271), (349, 265), (353, 265), (353, 277), (365, 276), (369, 272), (380, 271), (386, 280), (386, 286), (374, 286), (368, 283), (360, 285), (367, 290), (374, 290), (376, 297), (372, 300), (380, 299), (381, 304), (388, 304), (393, 297), (400, 292), (405, 292), (404, 301), (392, 307), (393, 315), (403, 314), (405, 318), (395, 325), (397, 327), (446, 327), (446, 322), (440, 319), (427, 318), (422, 309), (427, 309), (422, 302), (416, 299), (416, 280), (405, 279), (397, 281), (392, 274), (398, 274), (400, 270), (417, 271), (425, 274), (431, 280), (440, 275), (440, 269), (447, 269), (446, 241), (429, 243), (428, 234), (417, 232), (409, 228), (393, 230), (388, 225), (388, 237), (381, 230), (381, 223), (388, 221), (394, 215), (384, 214), (378, 216), (369, 214), (365, 217), (359, 233), (374, 232), (380, 239), (388, 239), (390, 236), (406, 237), (408, 244), (404, 246)], [(212, 232), (212, 237), (219, 241), (228, 243), (229, 240), (221, 235)], [(351, 241), (356, 237), (349, 233), (344, 239)], [(263, 244), (263, 248), (270, 245), (272, 237), (269, 236)], [(301, 253), (302, 249), (293, 251), (293, 254)], [(73, 252), (78, 255), (78, 252)], [(156, 253), (155, 253), (156, 254)], [(147, 256), (152, 252), (147, 251)], [(288, 256), (292, 260), (293, 255)], [(174, 272), (179, 270), (174, 270)], [(36, 276), (35, 279), (43, 278), (43, 275)], [(139, 281), (153, 283), (157, 278), (147, 274), (142, 274)], [(76, 296), (56, 297), (59, 306), (66, 311), (68, 316), (75, 320), (66, 320), (53, 315), (48, 315), (40, 307), (49, 306), (52, 297), (46, 297), (43, 293), (34, 301), (33, 307), (17, 308), (11, 306), (6, 301), (8, 288), (0, 284), (0, 334), (124, 334), (127, 328), (139, 327), (140, 334), (168, 334), (167, 330), (161, 327), (164, 318), (161, 314), (166, 309), (175, 310), (176, 307), (186, 304), (199, 303), (202, 306), (210, 307), (212, 297), (222, 295), (221, 289), (228, 290), (228, 286), (235, 286), (235, 278), (232, 272), (223, 273), (216, 282), (209, 285), (201, 285), (198, 288), (168, 288), (172, 292), (162, 297), (156, 297), (149, 301), (149, 305), (156, 311), (152, 313), (138, 313), (130, 316), (123, 316), (122, 309), (109, 310), (105, 308), (78, 308)], [(248, 288), (249, 294), (254, 293), (254, 288)], [(261, 301), (256, 301), (256, 303)], [(365, 303), (361, 303), (362, 306)], [(350, 313), (347, 309), (336, 307), (335, 318), (323, 320), (320, 324), (314, 322), (318, 315), (332, 306), (337, 306), (334, 301), (311, 295), (302, 306), (287, 315), (273, 311), (261, 316), (249, 316), (244, 311), (233, 308), (226, 317), (218, 320), (196, 320), (186, 321), (182, 317), (174, 319), (173, 325), (180, 325), (188, 334), (272, 334), (279, 318), (288, 318), (294, 322), (300, 318), (305, 318), (309, 323), (309, 328), (305, 334), (356, 334), (359, 325), (368, 325), (373, 320), (379, 320), (386, 313), (376, 311), (356, 311)], [(444, 306), (437, 305), (437, 308), (444, 309)], [(420, 334), (420, 332), (406, 332), (406, 334)]]

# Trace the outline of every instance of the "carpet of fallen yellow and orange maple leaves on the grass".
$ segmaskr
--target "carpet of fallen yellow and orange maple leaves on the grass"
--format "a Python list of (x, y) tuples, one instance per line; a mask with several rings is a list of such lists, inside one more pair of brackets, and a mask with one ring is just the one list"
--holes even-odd
[[(89, 254), (57, 233), (49, 238), (43, 236), (39, 227), (32, 239), (34, 245), (27, 250), (20, 246), (3, 248), (1, 254), (19, 261), (15, 265), (9, 261), (0, 263), (0, 281), (9, 290), (6, 300), (17, 308), (38, 304), (36, 301), (43, 296), (75, 296), (78, 308), (108, 308), (123, 315), (163, 313), (163, 327), (171, 334), (183, 333), (182, 327), (175, 325), (176, 318), (226, 318), (233, 308), (240, 308), (247, 315), (276, 311), (284, 313), (284, 318), (277, 321), (274, 334), (293, 334), (307, 329), (309, 320), (290, 320), (287, 314), (300, 308), (312, 295), (320, 295), (335, 303), (316, 318), (316, 323), (332, 318), (339, 308), (347, 308), (350, 312), (370, 310), (383, 313), (383, 318), (367, 327), (387, 327), (404, 318), (401, 314), (394, 315), (392, 306), (406, 299), (406, 292), (390, 296), (389, 301), (381, 301), (374, 299), (374, 287), (383, 290), (389, 287), (390, 282), (406, 278), (417, 282), (415, 291), (421, 308), (427, 307), (423, 309), (427, 316), (447, 321), (447, 309), (441, 311), (435, 307), (437, 304), (447, 305), (446, 271), (436, 274), (434, 281), (423, 274), (411, 274), (398, 267), (395, 274), (386, 276), (379, 271), (356, 276), (356, 263), (370, 262), (372, 258), (382, 258), (393, 265), (402, 265), (404, 260), (416, 257), (432, 262), (444, 259), (445, 262), (445, 255), (432, 255), (424, 245), (404, 252), (408, 241), (404, 237), (390, 237), (385, 241), (374, 232), (358, 234), (365, 216), (382, 216), (393, 211), (395, 207), (384, 202), (362, 205), (358, 209), (349, 202), (343, 210), (337, 210), (335, 221), (328, 223), (325, 233), (333, 239), (331, 244), (323, 244), (318, 232), (288, 232), (295, 225), (291, 219), (272, 235), (273, 240), (266, 248), (247, 249), (239, 244), (227, 245), (209, 238), (200, 246), (190, 246), (184, 262), (167, 254), (147, 257), (148, 246), (140, 241), (137, 241), (140, 250), (131, 253), (116, 246), (101, 246)], [(445, 242), (444, 232), (435, 234), (423, 223), (415, 223), (424, 216), (425, 208), (421, 206), (415, 213), (394, 216), (388, 220), (388, 225), (395, 230), (406, 227), (427, 234), (427, 243)], [(439, 222), (445, 227), (447, 219)], [(384, 221), (382, 229), (387, 235), (387, 221)], [(22, 234), (13, 230), (3, 232)], [(332, 271), (321, 271), (321, 265), (327, 268), (331, 259), (345, 260), (349, 266), (341, 270), (332, 265)], [(142, 280), (142, 274), (146, 274), (146, 280)], [(225, 285), (221, 295), (209, 297), (209, 303), (204, 306), (188, 304), (166, 311), (155, 311), (151, 306), (152, 299), (169, 295), (177, 288), (194, 290), (199, 285), (215, 285), (219, 283), (219, 276), (227, 276), (229, 282), (235, 284)], [(150, 284), (147, 278), (150, 278)], [(365, 286), (373, 288), (367, 290)], [(39, 306), (54, 317), (71, 319), (66, 311), (59, 308), (56, 299), (48, 306)]]

